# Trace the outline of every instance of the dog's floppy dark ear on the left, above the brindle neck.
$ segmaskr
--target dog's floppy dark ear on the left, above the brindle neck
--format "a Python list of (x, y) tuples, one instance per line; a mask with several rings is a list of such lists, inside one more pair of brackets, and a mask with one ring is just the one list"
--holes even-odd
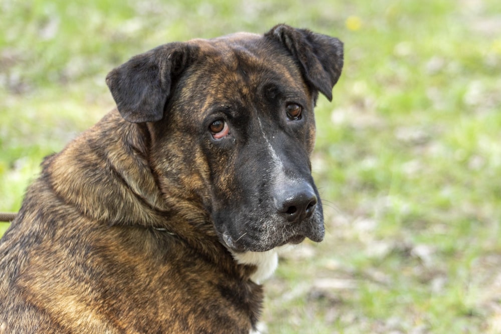
[(131, 58), (106, 76), (120, 115), (129, 122), (155, 122), (163, 117), (172, 81), (187, 66), (188, 48), (162, 45)]

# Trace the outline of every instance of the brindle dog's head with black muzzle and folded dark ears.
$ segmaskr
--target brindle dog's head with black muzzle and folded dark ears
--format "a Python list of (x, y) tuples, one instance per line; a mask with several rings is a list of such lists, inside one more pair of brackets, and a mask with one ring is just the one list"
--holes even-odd
[(107, 84), (125, 120), (148, 122), (165, 196), (198, 201), (231, 251), (266, 251), (324, 237), (313, 109), (342, 66), (339, 40), (279, 25), (158, 47)]

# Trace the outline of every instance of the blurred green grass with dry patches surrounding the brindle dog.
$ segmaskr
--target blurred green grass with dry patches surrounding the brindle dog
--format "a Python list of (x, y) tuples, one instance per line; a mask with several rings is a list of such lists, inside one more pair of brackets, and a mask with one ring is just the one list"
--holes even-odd
[[(501, 332), (501, 2), (0, 4), (0, 211), (113, 108), (104, 78), (159, 44), (277, 23), (345, 43), (317, 108), (321, 244), (266, 282), (269, 333)], [(0, 223), (0, 234), (7, 224)]]

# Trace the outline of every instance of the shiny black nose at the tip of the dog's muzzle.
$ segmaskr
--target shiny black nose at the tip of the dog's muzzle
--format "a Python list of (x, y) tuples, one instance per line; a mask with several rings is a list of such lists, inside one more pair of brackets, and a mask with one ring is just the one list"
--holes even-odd
[(279, 214), (289, 221), (311, 217), (317, 205), (317, 196), (308, 183), (282, 186), (274, 200)]

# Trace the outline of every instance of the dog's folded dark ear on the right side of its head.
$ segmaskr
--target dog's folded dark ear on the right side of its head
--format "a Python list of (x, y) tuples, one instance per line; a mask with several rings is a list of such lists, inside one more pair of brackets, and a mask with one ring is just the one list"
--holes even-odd
[(306, 29), (278, 25), (266, 37), (279, 41), (301, 65), (305, 79), (332, 101), (332, 88), (343, 69), (343, 43)]

